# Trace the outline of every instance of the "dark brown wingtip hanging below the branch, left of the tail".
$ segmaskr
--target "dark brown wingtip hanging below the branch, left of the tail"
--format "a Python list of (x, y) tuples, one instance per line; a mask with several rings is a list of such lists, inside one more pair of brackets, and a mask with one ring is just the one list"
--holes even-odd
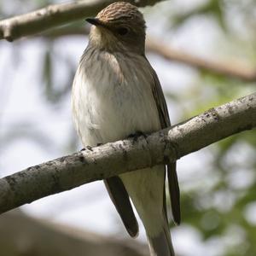
[(128, 231), (131, 237), (137, 236), (138, 224), (137, 219), (131, 207), (131, 201), (129, 195), (125, 189), (119, 177), (109, 177), (104, 180), (106, 188), (108, 189), (108, 195), (125, 224), (125, 229)]

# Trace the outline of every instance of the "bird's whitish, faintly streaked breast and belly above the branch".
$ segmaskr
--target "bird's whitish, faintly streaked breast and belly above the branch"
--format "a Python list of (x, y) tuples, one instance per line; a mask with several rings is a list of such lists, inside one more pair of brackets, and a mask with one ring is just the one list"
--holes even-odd
[[(121, 61), (122, 60), (122, 61)], [(73, 118), (85, 145), (160, 129), (148, 62), (100, 52), (84, 55), (73, 81)]]

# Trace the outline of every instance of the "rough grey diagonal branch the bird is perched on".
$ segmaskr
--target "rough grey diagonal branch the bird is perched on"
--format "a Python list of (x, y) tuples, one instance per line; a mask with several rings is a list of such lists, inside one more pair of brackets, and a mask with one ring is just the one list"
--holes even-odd
[(0, 212), (120, 173), (174, 161), (256, 126), (256, 93), (178, 125), (50, 160), (0, 179)]

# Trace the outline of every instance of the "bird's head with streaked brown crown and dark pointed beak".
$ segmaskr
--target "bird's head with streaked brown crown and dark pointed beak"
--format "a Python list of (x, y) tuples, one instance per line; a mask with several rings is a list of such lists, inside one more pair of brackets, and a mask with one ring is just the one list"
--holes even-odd
[(136, 6), (115, 2), (86, 19), (94, 25), (90, 29), (90, 45), (108, 51), (134, 51), (144, 54), (145, 20)]

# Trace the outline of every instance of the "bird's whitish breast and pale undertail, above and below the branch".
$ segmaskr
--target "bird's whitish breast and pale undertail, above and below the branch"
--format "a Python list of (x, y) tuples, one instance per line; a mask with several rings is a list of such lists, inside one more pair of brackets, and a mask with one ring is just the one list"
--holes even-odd
[[(85, 52), (73, 81), (73, 118), (84, 146), (113, 142), (137, 131), (159, 130), (151, 83), (154, 78), (143, 56), (130, 59), (121, 54)], [(163, 226), (165, 166), (119, 177), (148, 236), (157, 236)]]

